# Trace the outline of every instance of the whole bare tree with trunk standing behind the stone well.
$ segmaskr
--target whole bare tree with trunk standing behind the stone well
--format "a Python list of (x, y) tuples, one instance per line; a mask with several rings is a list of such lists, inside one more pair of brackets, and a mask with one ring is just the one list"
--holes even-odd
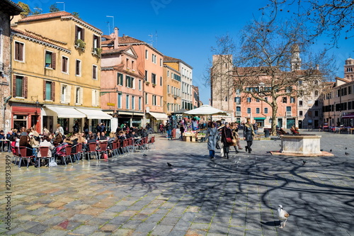
[[(222, 41), (222, 45), (232, 48), (229, 45), (233, 43), (227, 38)], [(307, 96), (314, 88), (319, 89), (331, 72), (326, 50), (310, 53), (309, 45), (306, 27), (295, 21), (252, 21), (241, 32), (232, 62), (233, 91), (243, 98), (253, 97), (269, 104), (273, 110), (272, 134), (276, 130), (279, 98)], [(226, 76), (230, 77), (229, 71)]]

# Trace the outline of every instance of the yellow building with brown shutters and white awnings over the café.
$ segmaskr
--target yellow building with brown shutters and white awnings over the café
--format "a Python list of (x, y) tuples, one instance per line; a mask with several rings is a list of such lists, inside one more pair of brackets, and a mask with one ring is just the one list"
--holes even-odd
[(12, 124), (67, 133), (75, 120), (95, 131), (109, 123), (100, 109), (101, 35), (89, 23), (59, 11), (13, 25)]

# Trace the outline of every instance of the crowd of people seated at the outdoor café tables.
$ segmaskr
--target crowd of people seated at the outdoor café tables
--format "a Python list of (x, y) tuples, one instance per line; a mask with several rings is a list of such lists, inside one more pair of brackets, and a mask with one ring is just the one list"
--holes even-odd
[[(90, 142), (102, 142), (107, 141), (108, 147), (112, 148), (112, 143), (118, 140), (122, 145), (123, 140), (132, 138), (135, 142), (140, 137), (148, 137), (148, 132), (144, 128), (135, 127), (122, 127), (118, 128), (116, 132), (110, 132), (109, 134), (105, 130), (103, 123), (98, 124), (96, 127), (96, 133), (89, 131), (86, 124), (84, 126), (84, 132), (79, 132), (79, 124), (76, 122), (73, 127), (72, 133), (64, 134), (62, 125), (57, 124), (55, 133), (50, 133), (49, 130), (43, 128), (42, 133), (38, 133), (34, 127), (26, 129), (22, 127), (21, 130), (11, 129), (6, 135), (4, 131), (0, 132), (1, 145), (10, 147), (9, 150), (16, 154), (16, 147), (26, 147), (26, 156), (33, 156), (36, 160), (37, 157), (41, 157), (38, 152), (39, 147), (49, 147), (46, 157), (52, 157), (54, 155), (61, 156), (66, 154), (65, 147), (70, 145), (72, 147), (72, 153), (76, 153), (76, 147), (79, 143), (82, 144), (84, 150), (89, 150)], [(108, 134), (108, 135), (107, 135)], [(35, 165), (36, 166), (36, 165)]]

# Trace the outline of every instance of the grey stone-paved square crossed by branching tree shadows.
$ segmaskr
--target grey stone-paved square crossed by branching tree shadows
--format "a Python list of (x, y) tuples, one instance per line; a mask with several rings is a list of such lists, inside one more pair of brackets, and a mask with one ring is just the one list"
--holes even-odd
[(273, 156), (280, 140), (257, 140), (252, 154), (210, 160), (206, 142), (158, 137), (147, 156), (11, 164), (9, 194), (0, 154), (0, 235), (354, 235), (354, 135), (316, 134), (334, 157)]

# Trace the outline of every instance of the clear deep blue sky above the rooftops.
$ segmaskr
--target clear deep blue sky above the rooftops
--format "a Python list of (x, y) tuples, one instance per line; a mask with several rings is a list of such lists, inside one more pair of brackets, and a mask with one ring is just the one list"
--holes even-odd
[[(59, 0), (58, 2), (62, 2)], [(23, 0), (33, 10), (49, 12), (49, 7), (57, 1)], [(57, 4), (60, 10), (79, 12), (80, 17), (104, 34), (112, 32), (114, 23), (122, 34), (150, 43), (149, 35), (157, 33), (154, 46), (164, 55), (179, 58), (193, 67), (193, 85), (199, 86), (200, 99), (208, 104), (210, 88), (204, 86), (204, 75), (208, 60), (212, 56), (210, 47), (216, 38), (225, 34), (237, 39), (239, 30), (252, 18), (259, 19), (266, 0), (136, 0), (136, 1), (65, 1)], [(155, 40), (155, 37), (154, 37)], [(321, 43), (326, 42), (321, 39)], [(354, 57), (354, 40), (340, 40), (333, 49), (337, 57), (338, 73), (343, 77), (343, 64), (348, 57)], [(350, 45), (351, 44), (351, 45)], [(319, 45), (320, 46), (320, 45)]]

